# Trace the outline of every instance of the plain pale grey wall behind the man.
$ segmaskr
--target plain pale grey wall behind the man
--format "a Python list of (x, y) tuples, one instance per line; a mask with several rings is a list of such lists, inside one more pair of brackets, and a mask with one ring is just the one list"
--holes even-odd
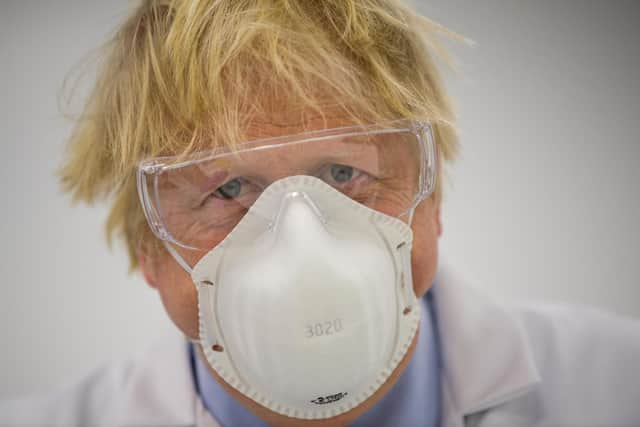
[[(0, 397), (46, 390), (171, 327), (123, 248), (107, 250), (106, 206), (72, 208), (54, 178), (71, 128), (56, 95), (127, 5), (0, 2)], [(463, 152), (444, 258), (489, 291), (640, 316), (640, 4), (419, 7), (476, 42), (452, 45)]]

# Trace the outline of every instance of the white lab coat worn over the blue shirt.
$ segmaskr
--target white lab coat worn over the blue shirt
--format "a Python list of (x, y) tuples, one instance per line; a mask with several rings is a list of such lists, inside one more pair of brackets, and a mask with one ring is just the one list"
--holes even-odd
[[(447, 268), (434, 294), (443, 426), (640, 426), (640, 321), (498, 303)], [(58, 393), (0, 404), (0, 425), (218, 426), (177, 334)]]

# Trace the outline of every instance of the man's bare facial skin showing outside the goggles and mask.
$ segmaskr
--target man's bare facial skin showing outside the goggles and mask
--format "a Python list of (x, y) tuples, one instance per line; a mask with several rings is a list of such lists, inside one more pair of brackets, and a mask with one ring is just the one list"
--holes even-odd
[[(254, 139), (294, 134), (306, 130), (340, 127), (344, 126), (345, 123), (345, 120), (339, 115), (334, 117), (327, 115), (324, 119), (315, 117), (310, 119), (305, 126), (295, 123), (282, 123), (278, 118), (270, 118), (270, 120), (254, 121), (247, 133), (249, 138)], [(432, 197), (420, 203), (415, 210), (411, 228), (414, 235), (412, 251), (413, 289), (416, 296), (420, 298), (431, 287), (436, 272), (438, 259), (437, 242), (442, 233), (439, 200)], [(184, 255), (187, 261), (194, 265), (203, 254)], [(147, 256), (141, 252), (139, 260), (146, 282), (159, 292), (171, 320), (186, 336), (196, 339), (198, 337), (197, 293), (188, 273), (167, 254)], [(226, 384), (213, 369), (210, 368), (209, 370), (211, 375), (231, 396), (270, 425), (278, 427), (345, 426), (370, 409), (393, 387), (413, 357), (417, 338), (418, 334), (414, 337), (407, 354), (389, 379), (369, 399), (346, 413), (324, 420), (301, 420), (277, 414), (245, 397)], [(202, 349), (198, 348), (198, 350), (199, 357), (205, 360)], [(204, 365), (209, 366), (206, 362)]]

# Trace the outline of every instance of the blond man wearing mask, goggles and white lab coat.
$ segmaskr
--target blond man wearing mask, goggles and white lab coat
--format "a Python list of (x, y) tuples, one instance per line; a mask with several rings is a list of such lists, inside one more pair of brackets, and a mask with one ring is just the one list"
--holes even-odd
[(141, 4), (62, 177), (113, 195), (182, 336), (0, 421), (639, 425), (637, 323), (437, 271), (438, 30), (395, 1)]

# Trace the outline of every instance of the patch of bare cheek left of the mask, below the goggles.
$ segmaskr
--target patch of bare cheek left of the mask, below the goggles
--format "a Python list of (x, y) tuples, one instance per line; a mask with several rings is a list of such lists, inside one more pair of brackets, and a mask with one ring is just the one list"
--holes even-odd
[(169, 255), (157, 268), (157, 289), (173, 323), (186, 336), (198, 338), (198, 293), (191, 277)]

